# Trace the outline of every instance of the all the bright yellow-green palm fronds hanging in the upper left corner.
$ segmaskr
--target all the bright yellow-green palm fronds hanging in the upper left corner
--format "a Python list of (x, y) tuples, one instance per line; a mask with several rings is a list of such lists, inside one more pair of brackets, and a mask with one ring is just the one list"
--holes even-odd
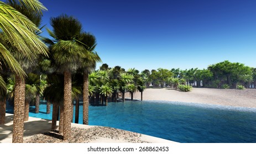
[[(46, 10), (39, 1), (26, 0), (19, 2), (35, 12), (41, 13), (41, 10)], [(32, 57), (35, 56), (33, 51), (36, 51), (36, 54), (41, 53), (47, 56), (48, 48), (34, 34), (34, 31), (40, 31), (38, 27), (25, 15), (3, 2), (0, 2), (0, 23), (0, 61), (7, 65), (12, 72), (23, 77), (25, 72), (12, 54), (9, 53), (7, 45), (11, 45), (17, 52), (23, 53), (29, 60), (32, 60)]]

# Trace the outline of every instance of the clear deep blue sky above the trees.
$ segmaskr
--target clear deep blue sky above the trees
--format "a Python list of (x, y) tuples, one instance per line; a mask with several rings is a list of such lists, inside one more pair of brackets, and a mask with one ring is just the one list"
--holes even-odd
[(40, 2), (50, 29), (50, 17), (79, 19), (109, 67), (203, 69), (224, 60), (256, 67), (255, 0)]

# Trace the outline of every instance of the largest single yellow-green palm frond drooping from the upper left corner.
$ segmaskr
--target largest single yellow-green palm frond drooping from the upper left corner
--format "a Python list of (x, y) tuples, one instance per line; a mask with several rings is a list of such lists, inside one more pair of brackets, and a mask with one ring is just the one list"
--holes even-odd
[(29, 59), (34, 56), (35, 51), (47, 56), (46, 45), (34, 34), (34, 31), (39, 30), (38, 27), (23, 14), (0, 2), (0, 21), (0, 29), (18, 52), (22, 52)]

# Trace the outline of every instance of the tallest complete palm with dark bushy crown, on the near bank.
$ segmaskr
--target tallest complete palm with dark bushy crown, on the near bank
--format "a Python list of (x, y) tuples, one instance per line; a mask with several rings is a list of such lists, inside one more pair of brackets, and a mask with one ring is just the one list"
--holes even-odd
[(67, 15), (60, 15), (50, 19), (53, 32), (49, 34), (55, 38), (51, 46), (56, 70), (64, 74), (64, 132), (63, 139), (69, 140), (71, 134), (71, 102), (72, 83), (71, 74), (81, 65), (84, 48), (76, 41), (82, 30), (79, 20)]

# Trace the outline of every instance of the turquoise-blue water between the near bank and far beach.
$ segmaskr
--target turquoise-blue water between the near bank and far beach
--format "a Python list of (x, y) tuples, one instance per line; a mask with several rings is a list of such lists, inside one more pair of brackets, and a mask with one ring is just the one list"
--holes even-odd
[[(51, 114), (45, 113), (46, 105), (41, 103), (40, 113), (35, 114), (34, 107), (30, 107), (29, 116), (51, 119)], [(256, 142), (256, 108), (163, 101), (110, 102), (108, 106), (89, 106), (89, 125), (177, 142)]]

